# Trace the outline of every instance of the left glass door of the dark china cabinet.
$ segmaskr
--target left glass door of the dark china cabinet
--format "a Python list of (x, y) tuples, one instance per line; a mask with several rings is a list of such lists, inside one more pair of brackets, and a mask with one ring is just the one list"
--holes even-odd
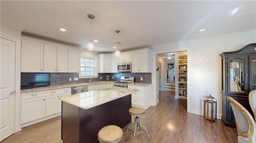
[(230, 57), (229, 65), (230, 69), (230, 77), (229, 77), (229, 90), (230, 92), (240, 92), (244, 93), (244, 65), (245, 65), (244, 57)]

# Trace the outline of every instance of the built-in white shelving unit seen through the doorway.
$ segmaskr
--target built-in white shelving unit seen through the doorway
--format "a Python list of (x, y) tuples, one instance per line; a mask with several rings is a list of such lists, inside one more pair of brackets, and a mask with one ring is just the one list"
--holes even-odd
[(178, 58), (178, 98), (179, 99), (187, 99), (187, 75), (188, 75), (188, 59), (187, 55), (180, 55)]

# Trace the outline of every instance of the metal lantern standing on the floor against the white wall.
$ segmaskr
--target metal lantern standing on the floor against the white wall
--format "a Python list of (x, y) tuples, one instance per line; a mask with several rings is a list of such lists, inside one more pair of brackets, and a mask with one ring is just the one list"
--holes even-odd
[(217, 100), (211, 94), (204, 98), (204, 119), (217, 121)]

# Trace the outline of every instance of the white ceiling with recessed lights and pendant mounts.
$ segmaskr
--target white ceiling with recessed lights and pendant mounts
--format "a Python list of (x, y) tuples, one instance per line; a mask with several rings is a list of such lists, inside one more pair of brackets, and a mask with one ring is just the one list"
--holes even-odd
[[(256, 29), (256, 1), (0, 1), (1, 16), (23, 34), (114, 52)], [(233, 10), (233, 11), (232, 11)], [(237, 12), (232, 14), (235, 10)], [(58, 29), (65, 28), (67, 32)], [(205, 32), (199, 29), (207, 28)], [(85, 49), (87, 50), (87, 49)]]

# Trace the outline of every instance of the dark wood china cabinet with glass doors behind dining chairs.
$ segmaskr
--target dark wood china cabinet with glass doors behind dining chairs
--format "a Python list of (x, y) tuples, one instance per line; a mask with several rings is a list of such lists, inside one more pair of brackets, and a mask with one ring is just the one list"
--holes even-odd
[(250, 114), (248, 94), (256, 89), (256, 43), (250, 43), (237, 51), (223, 52), (222, 59), (222, 121), (236, 127), (234, 114), (227, 97), (244, 106)]

